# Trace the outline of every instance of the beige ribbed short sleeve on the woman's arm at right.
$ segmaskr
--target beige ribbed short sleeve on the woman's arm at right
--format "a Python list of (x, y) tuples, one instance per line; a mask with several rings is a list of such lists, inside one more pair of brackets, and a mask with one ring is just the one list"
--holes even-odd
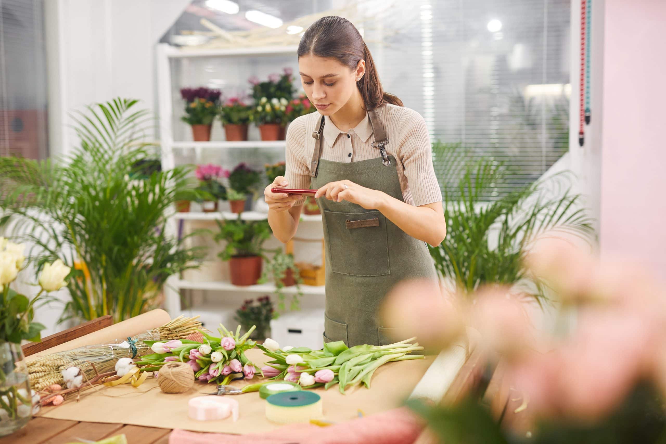
[(442, 202), (442, 190), (432, 166), (432, 145), (426, 120), (405, 108), (399, 124), (399, 155), (414, 205)]

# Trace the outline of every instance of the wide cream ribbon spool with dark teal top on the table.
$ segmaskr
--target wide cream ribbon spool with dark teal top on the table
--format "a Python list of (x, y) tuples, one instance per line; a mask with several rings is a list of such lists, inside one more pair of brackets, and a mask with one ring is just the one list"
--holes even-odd
[(322, 397), (312, 391), (277, 393), (266, 399), (266, 419), (272, 423), (306, 423), (322, 417)]

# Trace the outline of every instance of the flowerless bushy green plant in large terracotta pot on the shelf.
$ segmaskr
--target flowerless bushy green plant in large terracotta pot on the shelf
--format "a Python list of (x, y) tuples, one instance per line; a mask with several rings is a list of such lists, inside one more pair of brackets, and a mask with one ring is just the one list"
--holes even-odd
[(261, 277), (264, 242), (270, 238), (268, 220), (224, 220), (216, 221), (220, 231), (215, 234), (215, 242), (226, 241), (226, 247), (218, 257), (229, 261), (231, 283), (248, 286), (257, 283)]

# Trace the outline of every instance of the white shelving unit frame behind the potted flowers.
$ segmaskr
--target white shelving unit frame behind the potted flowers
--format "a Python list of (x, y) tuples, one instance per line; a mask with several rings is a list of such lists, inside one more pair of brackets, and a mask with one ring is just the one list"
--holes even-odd
[[(275, 55), (295, 55), (296, 46), (276, 46), (276, 47), (247, 47), (247, 48), (233, 48), (233, 49), (178, 49), (166, 43), (160, 44), (157, 47), (157, 83), (158, 83), (158, 96), (159, 96), (159, 117), (160, 117), (160, 135), (162, 145), (162, 167), (165, 170), (174, 168), (175, 156), (174, 149), (178, 150), (194, 150), (196, 162), (202, 159), (202, 153), (208, 150), (226, 150), (238, 148), (269, 148), (276, 150), (284, 150), (286, 142), (278, 140), (276, 142), (264, 142), (261, 140), (249, 140), (244, 142), (226, 142), (226, 141), (211, 141), (211, 142), (191, 142), (173, 140), (173, 103), (172, 103), (172, 78), (170, 61), (172, 59), (187, 59), (192, 57), (263, 57)], [(184, 85), (182, 85), (184, 86)], [(268, 215), (260, 212), (244, 212), (242, 213), (242, 220), (262, 220), (266, 219)], [(201, 221), (201, 220), (224, 220), (237, 218), (237, 214), (230, 212), (188, 212), (176, 213), (172, 218), (172, 228), (176, 232), (176, 226), (185, 221)], [(322, 216), (309, 216), (303, 215), (301, 222), (312, 222), (321, 224)], [(180, 304), (180, 290), (206, 290), (212, 292), (234, 292), (234, 293), (272, 293), (275, 291), (275, 286), (272, 284), (260, 284), (254, 286), (234, 286), (230, 282), (202, 282), (202, 281), (186, 281), (180, 280), (177, 276), (169, 278), (165, 286), (166, 296), (166, 310), (171, 316), (178, 316), (183, 313)], [(323, 296), (324, 287), (313, 286), (300, 286), (300, 290), (304, 295), (310, 296)], [(296, 288), (284, 288), (285, 294), (294, 294), (297, 292)], [(228, 310), (235, 310), (236, 307), (228, 307)], [(205, 313), (205, 307), (196, 307), (196, 312)], [(210, 311), (220, 312), (228, 311), (227, 308), (220, 306), (211, 307)], [(193, 312), (194, 309), (188, 310)]]

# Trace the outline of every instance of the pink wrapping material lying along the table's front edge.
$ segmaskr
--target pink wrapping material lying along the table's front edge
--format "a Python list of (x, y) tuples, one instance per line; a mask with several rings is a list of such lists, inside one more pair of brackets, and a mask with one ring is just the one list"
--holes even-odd
[(257, 435), (226, 435), (174, 430), (169, 444), (412, 444), (424, 424), (406, 408), (319, 427), (294, 424)]

